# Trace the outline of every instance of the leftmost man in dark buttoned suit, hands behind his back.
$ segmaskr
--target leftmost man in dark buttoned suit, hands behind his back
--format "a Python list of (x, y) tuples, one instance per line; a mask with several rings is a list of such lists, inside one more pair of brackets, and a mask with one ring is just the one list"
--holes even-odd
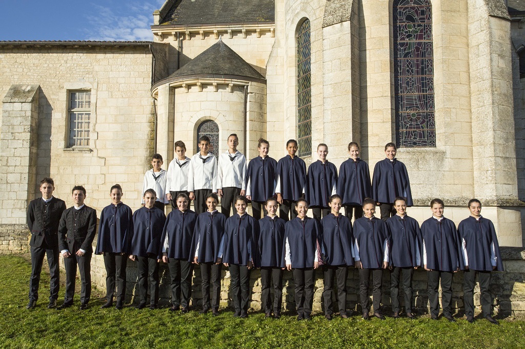
[(58, 270), (58, 222), (62, 212), (66, 209), (63, 200), (53, 197), (55, 183), (51, 178), (40, 181), (42, 197), (29, 202), (27, 209), (27, 226), (31, 232), (31, 278), (29, 279), (29, 303), (27, 309), (33, 309), (38, 300), (38, 286), (40, 272), (47, 255), (51, 282), (50, 296), (47, 308), (55, 308), (58, 298), (59, 270)]

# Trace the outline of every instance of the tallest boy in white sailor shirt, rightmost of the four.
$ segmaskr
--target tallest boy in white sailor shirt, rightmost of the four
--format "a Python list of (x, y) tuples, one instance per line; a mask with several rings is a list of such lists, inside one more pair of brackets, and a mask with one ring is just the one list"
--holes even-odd
[(237, 150), (239, 138), (235, 133), (228, 136), (228, 150), (220, 154), (218, 165), (217, 190), (220, 199), (220, 212), (229, 217), (237, 213), (234, 199), (246, 194), (246, 157)]

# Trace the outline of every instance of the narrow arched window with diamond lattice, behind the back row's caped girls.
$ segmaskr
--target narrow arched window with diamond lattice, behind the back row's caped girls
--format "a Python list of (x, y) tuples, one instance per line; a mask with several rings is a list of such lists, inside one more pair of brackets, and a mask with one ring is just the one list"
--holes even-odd
[(312, 155), (312, 91), (310, 80), (310, 20), (297, 33), (297, 127), (298, 155)]

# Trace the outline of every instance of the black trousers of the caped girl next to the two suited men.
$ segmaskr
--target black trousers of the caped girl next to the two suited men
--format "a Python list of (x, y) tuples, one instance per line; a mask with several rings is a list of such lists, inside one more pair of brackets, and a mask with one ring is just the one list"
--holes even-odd
[(124, 302), (126, 296), (126, 266), (128, 255), (104, 252), (104, 266), (106, 266), (106, 298), (113, 301), (115, 284), (117, 284), (117, 302)]

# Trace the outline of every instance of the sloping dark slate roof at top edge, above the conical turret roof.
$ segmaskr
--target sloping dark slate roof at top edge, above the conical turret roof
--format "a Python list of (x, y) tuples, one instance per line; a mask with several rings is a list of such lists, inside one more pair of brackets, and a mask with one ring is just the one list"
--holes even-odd
[(275, 0), (177, 0), (161, 25), (273, 22)]

